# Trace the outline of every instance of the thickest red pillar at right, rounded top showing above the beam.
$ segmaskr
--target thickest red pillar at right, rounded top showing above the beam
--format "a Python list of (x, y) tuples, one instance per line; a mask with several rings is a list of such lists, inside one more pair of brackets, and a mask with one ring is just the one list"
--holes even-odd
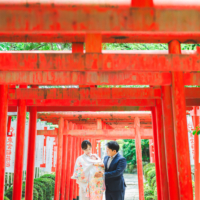
[[(180, 54), (180, 43), (178, 41), (170, 42), (169, 51), (170, 53)], [(193, 191), (186, 121), (185, 88), (183, 72), (181, 71), (172, 72), (172, 106), (180, 199), (192, 200)]]

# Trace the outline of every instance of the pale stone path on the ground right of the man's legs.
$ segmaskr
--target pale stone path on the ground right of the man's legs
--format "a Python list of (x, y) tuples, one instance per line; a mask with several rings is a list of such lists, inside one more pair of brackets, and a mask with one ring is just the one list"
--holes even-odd
[[(126, 193), (125, 200), (139, 200), (139, 191), (138, 191), (138, 177), (137, 174), (124, 174), (126, 181)], [(105, 200), (105, 197), (104, 199)]]

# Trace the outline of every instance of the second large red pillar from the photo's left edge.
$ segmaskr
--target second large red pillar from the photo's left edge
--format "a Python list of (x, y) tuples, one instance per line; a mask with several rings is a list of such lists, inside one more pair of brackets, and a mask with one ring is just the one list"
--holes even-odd
[[(26, 86), (20, 86), (20, 88), (26, 88)], [(15, 167), (14, 167), (14, 180), (13, 180), (13, 199), (15, 200), (21, 200), (22, 196), (25, 126), (26, 126), (26, 101), (18, 100)]]

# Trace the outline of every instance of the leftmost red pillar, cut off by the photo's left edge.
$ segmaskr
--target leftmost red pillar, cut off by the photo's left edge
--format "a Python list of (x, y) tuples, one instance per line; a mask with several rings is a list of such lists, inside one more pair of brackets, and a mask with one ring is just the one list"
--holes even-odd
[(6, 167), (6, 136), (8, 112), (8, 86), (0, 85), (0, 200), (4, 199), (4, 179)]

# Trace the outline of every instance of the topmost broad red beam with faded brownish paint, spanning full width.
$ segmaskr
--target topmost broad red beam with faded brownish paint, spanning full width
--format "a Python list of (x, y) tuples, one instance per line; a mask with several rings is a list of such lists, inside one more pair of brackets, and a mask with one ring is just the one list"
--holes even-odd
[[(192, 9), (166, 9), (2, 3), (0, 33), (17, 38), (27, 35), (62, 37), (72, 32), (102, 32), (113, 36), (118, 32), (123, 33), (124, 37), (131, 32), (137, 32), (137, 36), (140, 32), (161, 32), (164, 36), (186, 33), (188, 40), (194, 40), (192, 33), (200, 32), (199, 16), (198, 6)], [(53, 38), (51, 42), (54, 42)]]

